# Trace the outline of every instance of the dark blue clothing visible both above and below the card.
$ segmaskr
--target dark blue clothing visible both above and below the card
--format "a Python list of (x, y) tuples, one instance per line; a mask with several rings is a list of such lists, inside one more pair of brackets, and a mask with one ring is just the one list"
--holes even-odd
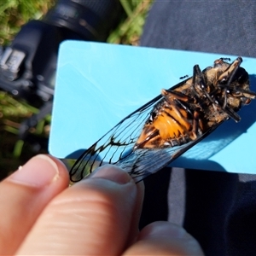
[[(256, 57), (256, 4), (157, 1), (141, 45)], [(183, 224), (206, 255), (256, 254), (256, 175), (170, 171), (165, 168), (145, 179), (142, 227), (169, 218)]]

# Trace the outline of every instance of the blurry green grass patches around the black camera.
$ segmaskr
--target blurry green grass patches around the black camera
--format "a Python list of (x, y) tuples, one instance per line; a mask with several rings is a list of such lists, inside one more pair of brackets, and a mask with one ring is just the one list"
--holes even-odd
[[(138, 45), (152, 2), (120, 0), (127, 18), (110, 34), (108, 43)], [(0, 5), (0, 44), (9, 44), (20, 31), (20, 26), (28, 20), (41, 19), (54, 4), (55, 0), (3, 1)], [(32, 155), (47, 152), (46, 148), (38, 148), (37, 144), (19, 139), (20, 123), (33, 113), (38, 113), (38, 109), (0, 90), (0, 179), (24, 164)], [(49, 129), (50, 116), (47, 116), (29, 132), (38, 141), (47, 140)]]

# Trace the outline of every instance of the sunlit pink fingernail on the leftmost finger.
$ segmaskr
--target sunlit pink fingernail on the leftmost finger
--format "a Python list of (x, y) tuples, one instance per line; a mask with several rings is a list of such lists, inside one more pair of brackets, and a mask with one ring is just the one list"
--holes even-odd
[(58, 166), (49, 156), (38, 154), (20, 166), (8, 179), (15, 183), (22, 183), (32, 187), (44, 187), (59, 177)]

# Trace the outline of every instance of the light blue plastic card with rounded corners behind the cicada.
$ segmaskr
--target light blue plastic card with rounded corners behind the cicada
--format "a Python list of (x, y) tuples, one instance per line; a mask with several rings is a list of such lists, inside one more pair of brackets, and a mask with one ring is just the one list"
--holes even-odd
[[(193, 67), (212, 66), (216, 55), (172, 49), (66, 41), (61, 44), (49, 152), (78, 158), (126, 115), (192, 75)], [(241, 67), (256, 91), (256, 59)], [(171, 166), (256, 173), (256, 100), (239, 112), (241, 122), (226, 121)]]

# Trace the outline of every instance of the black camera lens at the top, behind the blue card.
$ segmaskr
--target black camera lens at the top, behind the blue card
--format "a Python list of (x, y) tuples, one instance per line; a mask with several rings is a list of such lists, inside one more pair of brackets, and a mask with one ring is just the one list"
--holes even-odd
[(67, 28), (84, 40), (105, 41), (122, 14), (118, 0), (60, 0), (44, 21)]

